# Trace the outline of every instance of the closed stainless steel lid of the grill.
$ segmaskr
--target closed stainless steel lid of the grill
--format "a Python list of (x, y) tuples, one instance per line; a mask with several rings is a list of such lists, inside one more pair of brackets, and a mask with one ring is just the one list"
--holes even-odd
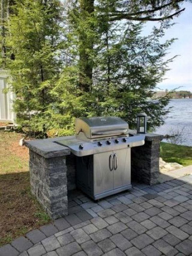
[(128, 134), (128, 123), (116, 116), (76, 118), (76, 133), (82, 131), (89, 139)]

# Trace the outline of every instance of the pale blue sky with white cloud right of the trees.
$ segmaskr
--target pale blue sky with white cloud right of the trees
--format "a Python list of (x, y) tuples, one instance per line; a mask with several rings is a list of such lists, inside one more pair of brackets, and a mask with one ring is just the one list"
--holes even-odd
[[(179, 55), (169, 64), (165, 80), (158, 84), (161, 89), (174, 89), (182, 86), (179, 90), (192, 92), (192, 2), (182, 4), (185, 11), (179, 17), (173, 19), (176, 24), (166, 31), (164, 39), (178, 38), (169, 49), (166, 58)], [(147, 24), (147, 30), (154, 25)], [(153, 24), (152, 24), (153, 23)]]

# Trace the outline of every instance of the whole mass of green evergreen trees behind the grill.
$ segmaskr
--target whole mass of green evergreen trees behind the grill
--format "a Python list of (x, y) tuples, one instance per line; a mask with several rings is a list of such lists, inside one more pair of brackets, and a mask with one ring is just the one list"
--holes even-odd
[[(145, 111), (150, 130), (162, 125), (170, 95), (153, 96), (173, 61), (165, 56), (174, 39), (162, 37), (178, 3), (15, 1), (6, 46), (16, 122), (51, 137), (73, 134), (81, 116), (120, 116), (134, 128)], [(146, 20), (155, 18), (144, 35)]]

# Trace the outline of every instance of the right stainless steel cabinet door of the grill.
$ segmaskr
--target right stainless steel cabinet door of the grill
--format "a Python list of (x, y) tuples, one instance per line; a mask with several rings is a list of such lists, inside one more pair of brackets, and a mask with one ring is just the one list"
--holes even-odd
[(113, 188), (131, 184), (131, 149), (113, 151), (113, 157)]

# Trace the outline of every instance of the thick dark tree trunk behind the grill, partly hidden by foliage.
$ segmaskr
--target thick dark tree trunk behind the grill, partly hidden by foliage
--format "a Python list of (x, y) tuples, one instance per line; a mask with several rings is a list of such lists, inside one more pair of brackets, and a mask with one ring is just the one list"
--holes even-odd
[[(88, 14), (91, 14), (94, 11), (94, 0), (80, 0), (80, 8), (83, 11), (87, 11)], [(86, 18), (86, 17), (85, 17)], [(94, 40), (94, 38), (93, 38)], [(80, 66), (80, 74), (79, 74), (79, 86), (80, 88), (88, 92), (91, 86), (92, 80), (92, 70), (93, 65), (90, 60), (89, 54), (87, 53), (88, 49), (92, 51), (93, 49), (93, 41), (86, 39), (84, 36), (80, 35), (79, 37), (80, 47), (79, 47), (79, 66)], [(82, 47), (85, 46), (85, 47)]]

